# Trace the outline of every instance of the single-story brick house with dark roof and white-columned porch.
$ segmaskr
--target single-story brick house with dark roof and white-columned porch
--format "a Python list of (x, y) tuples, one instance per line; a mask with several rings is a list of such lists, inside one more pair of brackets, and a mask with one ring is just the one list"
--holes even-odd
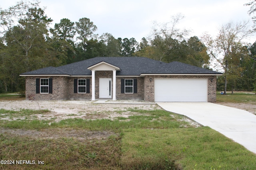
[(145, 100), (216, 102), (222, 73), (144, 57), (95, 57), (20, 74), (33, 100)]

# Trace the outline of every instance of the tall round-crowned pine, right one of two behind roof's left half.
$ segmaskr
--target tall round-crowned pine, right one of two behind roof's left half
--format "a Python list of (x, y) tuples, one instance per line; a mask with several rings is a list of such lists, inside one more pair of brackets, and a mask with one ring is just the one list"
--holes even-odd
[(82, 41), (82, 48), (85, 52), (87, 41), (90, 39), (94, 39), (94, 37), (96, 36), (94, 35), (94, 32), (97, 30), (97, 27), (93, 24), (92, 21), (90, 21), (89, 18), (81, 18), (78, 22), (76, 22), (75, 29), (78, 33), (77, 38)]

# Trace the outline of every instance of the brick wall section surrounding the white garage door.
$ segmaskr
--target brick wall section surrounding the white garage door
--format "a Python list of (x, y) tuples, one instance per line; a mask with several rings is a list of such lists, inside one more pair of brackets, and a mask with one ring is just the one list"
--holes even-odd
[[(150, 82), (150, 78), (152, 81)], [(216, 102), (216, 76), (145, 76), (144, 77), (144, 100), (154, 102), (154, 79), (155, 78), (204, 78), (208, 80), (208, 102)], [(212, 82), (211, 82), (212, 79)]]

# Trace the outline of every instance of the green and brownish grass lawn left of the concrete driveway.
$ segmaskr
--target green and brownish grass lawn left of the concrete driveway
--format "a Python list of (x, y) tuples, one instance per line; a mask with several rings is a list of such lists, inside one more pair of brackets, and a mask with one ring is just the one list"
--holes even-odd
[(44, 111), (0, 110), (0, 128), (34, 131), (87, 129), (111, 131), (107, 139), (42, 139), (0, 134), (0, 160), (35, 160), (44, 164), (0, 164), (0, 169), (110, 170), (253, 170), (256, 155), (209, 127), (192, 127), (182, 116), (163, 110), (127, 110), (137, 114), (109, 119), (60, 122), (12, 119)]

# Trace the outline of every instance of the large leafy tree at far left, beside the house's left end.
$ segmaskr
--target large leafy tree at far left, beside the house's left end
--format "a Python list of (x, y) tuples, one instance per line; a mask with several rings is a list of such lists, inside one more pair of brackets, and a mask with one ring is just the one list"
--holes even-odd
[(24, 90), (24, 78), (19, 74), (59, 61), (51, 53), (46, 37), (52, 22), (40, 8), (39, 2), (18, 2), (8, 10), (0, 10), (2, 43), (0, 49), (0, 78), (5, 91)]

